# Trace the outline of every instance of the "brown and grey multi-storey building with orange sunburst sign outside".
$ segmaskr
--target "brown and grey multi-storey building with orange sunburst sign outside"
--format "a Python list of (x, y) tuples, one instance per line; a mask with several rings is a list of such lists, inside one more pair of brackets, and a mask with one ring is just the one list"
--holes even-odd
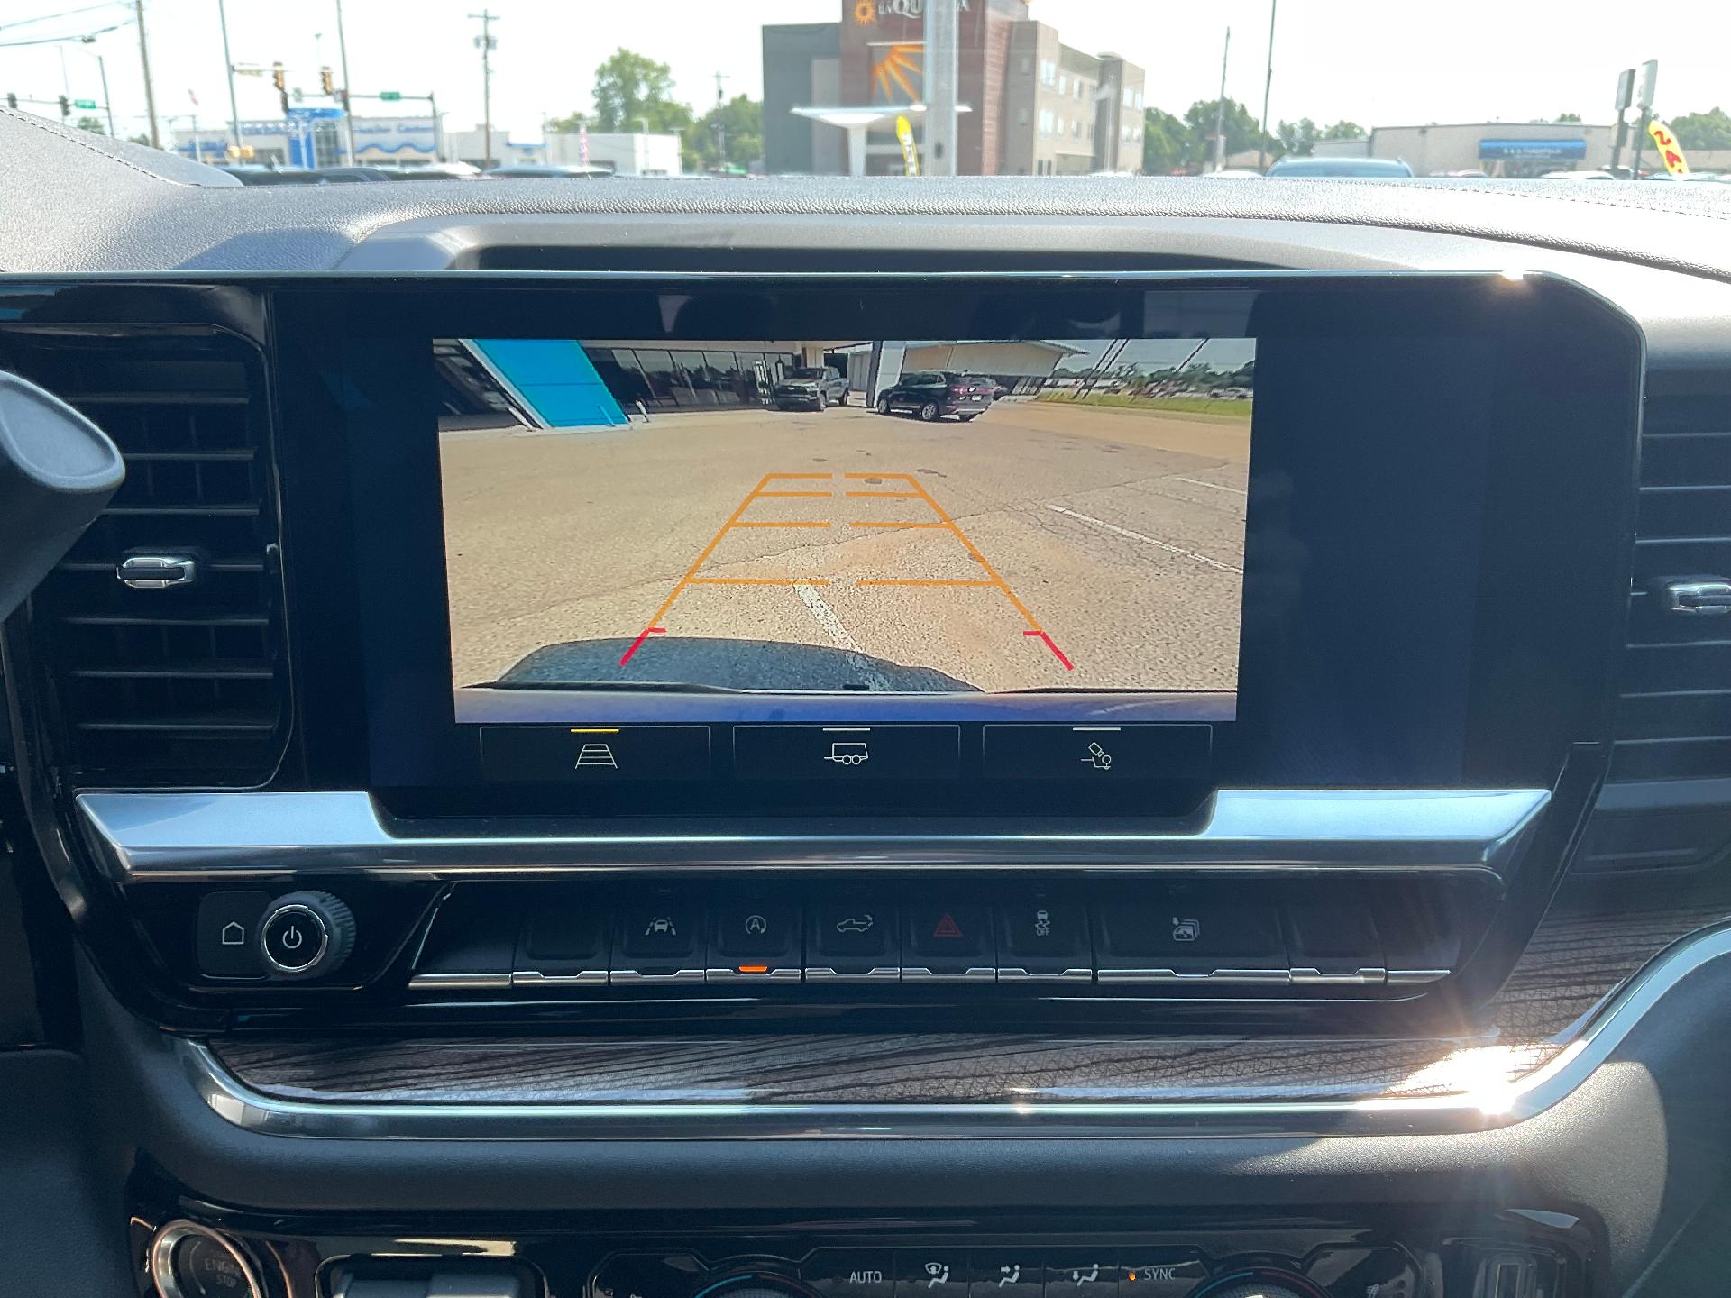
[[(924, 2), (838, 5), (836, 22), (763, 28), (767, 171), (900, 173), (898, 116), (924, 159)], [(1142, 170), (1141, 67), (1065, 45), (1026, 0), (959, 7), (957, 173)]]

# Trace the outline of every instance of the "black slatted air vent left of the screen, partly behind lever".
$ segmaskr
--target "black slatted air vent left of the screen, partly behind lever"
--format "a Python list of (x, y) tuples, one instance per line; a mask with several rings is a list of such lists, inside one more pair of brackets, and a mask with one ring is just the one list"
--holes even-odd
[(287, 671), (258, 353), (216, 332), (9, 334), (5, 353), (126, 459), (31, 599), (55, 760), (102, 784), (267, 781)]

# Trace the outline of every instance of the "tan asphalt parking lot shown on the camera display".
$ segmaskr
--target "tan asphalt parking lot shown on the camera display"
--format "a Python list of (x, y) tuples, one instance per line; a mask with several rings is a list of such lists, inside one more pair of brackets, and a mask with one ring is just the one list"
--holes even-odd
[(1248, 450), (1023, 400), (447, 431), (455, 680), (1229, 691)]

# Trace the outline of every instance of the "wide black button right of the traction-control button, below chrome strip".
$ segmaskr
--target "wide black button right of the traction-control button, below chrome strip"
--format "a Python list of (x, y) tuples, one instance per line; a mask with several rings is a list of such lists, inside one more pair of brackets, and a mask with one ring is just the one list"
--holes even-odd
[(1094, 907), (1099, 980), (1288, 980), (1279, 916), (1260, 902), (1189, 893), (1108, 896)]

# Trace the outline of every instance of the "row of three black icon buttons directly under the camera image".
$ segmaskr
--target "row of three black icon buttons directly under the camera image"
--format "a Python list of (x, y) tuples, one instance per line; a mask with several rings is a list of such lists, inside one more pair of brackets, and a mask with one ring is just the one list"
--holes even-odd
[[(959, 725), (483, 725), (490, 781), (620, 784), (706, 781), (717, 742), (748, 781), (933, 781), (962, 774)], [(1198, 723), (981, 725), (987, 779), (1170, 781), (1208, 774), (1213, 730)]]

